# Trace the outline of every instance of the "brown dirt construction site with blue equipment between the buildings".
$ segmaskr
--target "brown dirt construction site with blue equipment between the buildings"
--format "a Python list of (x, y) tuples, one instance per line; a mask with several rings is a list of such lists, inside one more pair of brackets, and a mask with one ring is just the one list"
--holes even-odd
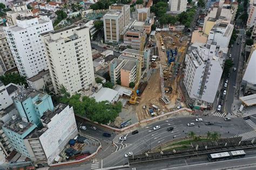
[(138, 104), (130, 102), (134, 104), (139, 121), (185, 107), (178, 84), (183, 76), (188, 38), (181, 32), (161, 31), (148, 44), (152, 42), (155, 50), (147, 72), (150, 78), (140, 80), (134, 89), (141, 92), (136, 96)]

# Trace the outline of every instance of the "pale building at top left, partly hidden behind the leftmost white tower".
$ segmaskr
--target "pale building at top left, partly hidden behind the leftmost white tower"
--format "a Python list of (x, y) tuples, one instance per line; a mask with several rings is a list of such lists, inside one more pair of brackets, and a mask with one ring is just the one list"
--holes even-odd
[(16, 2), (9, 6), (11, 11), (6, 12), (6, 25), (12, 26), (16, 25), (17, 17), (29, 17), (33, 16), (32, 10), (28, 9), (25, 2)]

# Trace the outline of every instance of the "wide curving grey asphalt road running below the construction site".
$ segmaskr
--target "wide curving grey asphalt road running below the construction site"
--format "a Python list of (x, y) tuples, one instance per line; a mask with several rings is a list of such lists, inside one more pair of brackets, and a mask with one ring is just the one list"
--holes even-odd
[[(226, 122), (224, 118), (216, 116), (206, 116), (202, 117), (203, 122), (196, 122), (196, 117), (179, 117), (179, 118), (170, 118), (166, 121), (160, 121), (157, 123), (150, 124), (145, 128), (138, 129), (139, 133), (132, 135), (131, 133), (125, 134), (127, 137), (126, 141), (119, 141), (116, 145), (119, 146), (121, 143), (123, 148), (116, 150), (116, 152), (100, 152), (100, 154), (106, 155), (102, 160), (99, 160), (100, 167), (102, 164), (103, 168), (120, 166), (127, 164), (128, 159), (124, 157), (124, 154), (127, 152), (133, 152), (133, 154), (142, 154), (146, 151), (149, 151), (151, 148), (156, 147), (160, 144), (170, 141), (173, 138), (180, 138), (187, 136), (187, 132), (193, 131), (196, 134), (204, 135), (207, 131), (216, 131), (221, 134), (222, 137), (233, 137), (236, 134), (244, 133), (250, 131), (252, 128), (241, 118), (233, 118), (232, 121)], [(213, 121), (214, 125), (206, 126), (204, 123), (207, 121)], [(194, 122), (196, 126), (187, 126), (187, 123)], [(84, 124), (83, 124), (84, 125)], [(86, 125), (86, 124), (85, 124)], [(154, 131), (153, 127), (160, 125), (160, 129)], [(200, 128), (198, 127), (200, 126)], [(97, 130), (89, 129), (85, 132), (93, 137), (99, 138), (99, 140), (109, 141), (116, 137), (116, 134), (112, 134), (110, 139), (107, 139), (102, 136), (103, 130), (99, 128)], [(166, 131), (170, 126), (174, 127), (172, 132)], [(183, 132), (184, 131), (184, 132)], [(228, 133), (228, 131), (230, 133)], [(112, 145), (111, 142), (109, 145)], [(97, 158), (97, 156), (96, 156)], [(73, 165), (72, 169), (90, 169), (92, 164), (78, 164)], [(61, 169), (59, 167), (59, 169)], [(70, 168), (64, 168), (70, 169)]]

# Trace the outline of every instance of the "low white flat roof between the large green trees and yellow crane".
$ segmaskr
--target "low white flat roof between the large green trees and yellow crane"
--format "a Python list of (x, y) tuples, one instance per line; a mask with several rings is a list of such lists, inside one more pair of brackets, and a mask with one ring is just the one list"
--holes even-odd
[(96, 102), (102, 102), (102, 101), (112, 102), (117, 95), (118, 95), (118, 91), (103, 87), (97, 93), (93, 93), (91, 97), (95, 98)]

